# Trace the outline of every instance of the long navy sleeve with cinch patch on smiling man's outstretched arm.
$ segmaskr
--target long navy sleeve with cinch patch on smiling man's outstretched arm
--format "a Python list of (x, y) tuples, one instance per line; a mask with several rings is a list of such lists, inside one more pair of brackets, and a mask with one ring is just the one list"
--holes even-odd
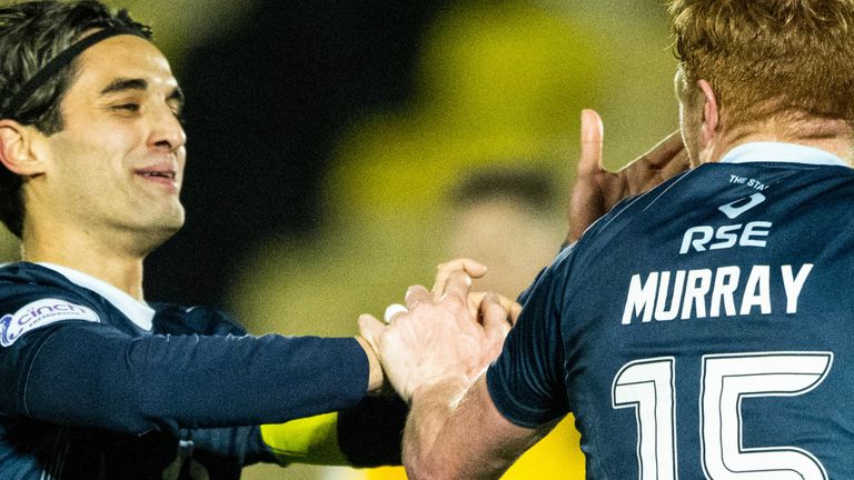
[[(14, 316), (27, 302), (0, 308)], [(0, 411), (50, 423), (135, 434), (278, 423), (346, 409), (367, 391), (367, 358), (349, 338), (132, 337), (73, 313), (11, 333), (0, 346)]]

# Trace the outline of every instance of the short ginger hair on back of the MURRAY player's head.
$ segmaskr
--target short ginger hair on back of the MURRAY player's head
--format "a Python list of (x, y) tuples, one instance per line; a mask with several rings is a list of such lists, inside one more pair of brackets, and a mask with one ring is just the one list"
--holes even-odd
[(711, 83), (724, 127), (854, 127), (854, 0), (673, 0), (669, 10), (684, 79)]

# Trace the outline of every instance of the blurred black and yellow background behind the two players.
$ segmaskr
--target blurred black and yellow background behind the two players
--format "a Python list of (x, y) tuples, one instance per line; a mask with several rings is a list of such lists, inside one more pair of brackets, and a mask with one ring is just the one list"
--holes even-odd
[[(566, 231), (580, 109), (603, 116), (612, 169), (677, 128), (661, 0), (107, 3), (153, 26), (188, 98), (187, 224), (149, 258), (147, 297), (256, 333), (351, 336), (463, 254), (515, 296)], [(469, 209), (460, 189), (495, 171), (553, 193)]]

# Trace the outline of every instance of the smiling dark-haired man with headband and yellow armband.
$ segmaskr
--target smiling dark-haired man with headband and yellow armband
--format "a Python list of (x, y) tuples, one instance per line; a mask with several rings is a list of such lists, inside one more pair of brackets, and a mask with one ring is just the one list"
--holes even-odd
[(399, 462), (405, 406), (367, 397), (383, 373), (364, 340), (255, 338), (145, 302), (142, 260), (183, 222), (182, 102), (126, 12), (0, 8), (0, 219), (24, 260), (0, 268), (0, 478)]

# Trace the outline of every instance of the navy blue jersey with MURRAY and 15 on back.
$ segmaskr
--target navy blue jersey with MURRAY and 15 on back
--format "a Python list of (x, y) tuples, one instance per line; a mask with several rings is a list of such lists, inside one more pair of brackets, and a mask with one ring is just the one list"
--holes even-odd
[(532, 287), (487, 373), (573, 411), (590, 479), (854, 478), (854, 170), (748, 143), (629, 199)]

